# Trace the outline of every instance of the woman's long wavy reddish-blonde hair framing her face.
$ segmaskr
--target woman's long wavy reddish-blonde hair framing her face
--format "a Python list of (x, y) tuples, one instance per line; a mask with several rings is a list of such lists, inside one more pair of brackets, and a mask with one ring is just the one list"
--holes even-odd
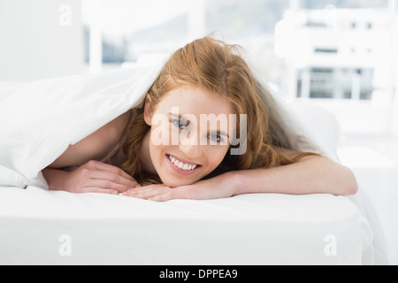
[[(241, 47), (208, 36), (175, 51), (149, 89), (150, 110), (155, 109), (162, 96), (180, 86), (202, 88), (231, 102), (238, 118), (238, 136), (240, 114), (247, 115), (246, 151), (241, 155), (231, 155), (228, 150), (224, 160), (207, 178), (228, 171), (293, 164), (304, 156), (314, 155), (303, 152), (295, 157), (287, 157), (274, 149), (275, 146), (282, 146), (283, 133), (269, 119), (269, 111), (273, 107), (272, 96), (251, 73), (249, 65), (241, 56)], [(142, 186), (161, 182), (158, 176), (142, 171), (139, 148), (148, 131), (143, 109), (138, 109), (126, 134), (123, 149), (127, 160), (120, 167)]]

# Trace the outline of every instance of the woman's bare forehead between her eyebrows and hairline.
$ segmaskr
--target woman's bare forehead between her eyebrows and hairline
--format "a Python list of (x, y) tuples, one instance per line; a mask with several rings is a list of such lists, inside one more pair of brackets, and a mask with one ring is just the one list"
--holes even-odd
[(162, 97), (158, 111), (170, 111), (179, 107), (181, 114), (233, 114), (233, 105), (226, 97), (219, 96), (202, 88), (183, 86), (175, 88)]

